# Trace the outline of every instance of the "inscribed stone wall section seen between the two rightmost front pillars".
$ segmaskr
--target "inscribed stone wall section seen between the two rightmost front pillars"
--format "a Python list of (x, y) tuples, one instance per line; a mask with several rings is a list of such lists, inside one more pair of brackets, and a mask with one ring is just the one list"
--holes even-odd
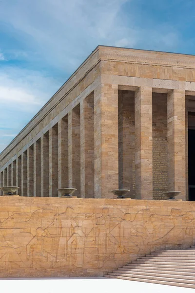
[(167, 138), (153, 137), (153, 199), (167, 199)]

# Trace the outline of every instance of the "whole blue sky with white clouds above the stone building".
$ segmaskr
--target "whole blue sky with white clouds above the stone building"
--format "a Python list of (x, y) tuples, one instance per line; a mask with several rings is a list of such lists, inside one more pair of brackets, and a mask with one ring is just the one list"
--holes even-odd
[(195, 2), (0, 0), (0, 151), (98, 44), (195, 54)]

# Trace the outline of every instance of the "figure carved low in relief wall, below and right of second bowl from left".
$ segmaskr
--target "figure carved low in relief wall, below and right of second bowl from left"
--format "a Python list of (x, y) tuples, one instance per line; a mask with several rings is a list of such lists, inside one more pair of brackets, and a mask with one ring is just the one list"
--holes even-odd
[(71, 252), (75, 256), (75, 266), (78, 268), (83, 267), (84, 262), (84, 249), (85, 249), (85, 234), (82, 227), (75, 226), (74, 233), (68, 240), (68, 245), (71, 246)]

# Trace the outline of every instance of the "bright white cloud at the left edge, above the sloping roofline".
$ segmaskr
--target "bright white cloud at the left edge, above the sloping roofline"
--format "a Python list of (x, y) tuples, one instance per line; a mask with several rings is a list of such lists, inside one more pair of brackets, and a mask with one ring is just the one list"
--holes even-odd
[(59, 83), (33, 70), (6, 67), (0, 70), (0, 105), (34, 112), (58, 89)]

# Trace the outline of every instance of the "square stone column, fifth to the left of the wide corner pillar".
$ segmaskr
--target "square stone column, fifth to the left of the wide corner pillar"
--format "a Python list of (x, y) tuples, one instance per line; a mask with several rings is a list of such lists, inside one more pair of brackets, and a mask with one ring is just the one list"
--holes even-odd
[(49, 196), (49, 134), (48, 132), (40, 139), (40, 178), (41, 196)]

